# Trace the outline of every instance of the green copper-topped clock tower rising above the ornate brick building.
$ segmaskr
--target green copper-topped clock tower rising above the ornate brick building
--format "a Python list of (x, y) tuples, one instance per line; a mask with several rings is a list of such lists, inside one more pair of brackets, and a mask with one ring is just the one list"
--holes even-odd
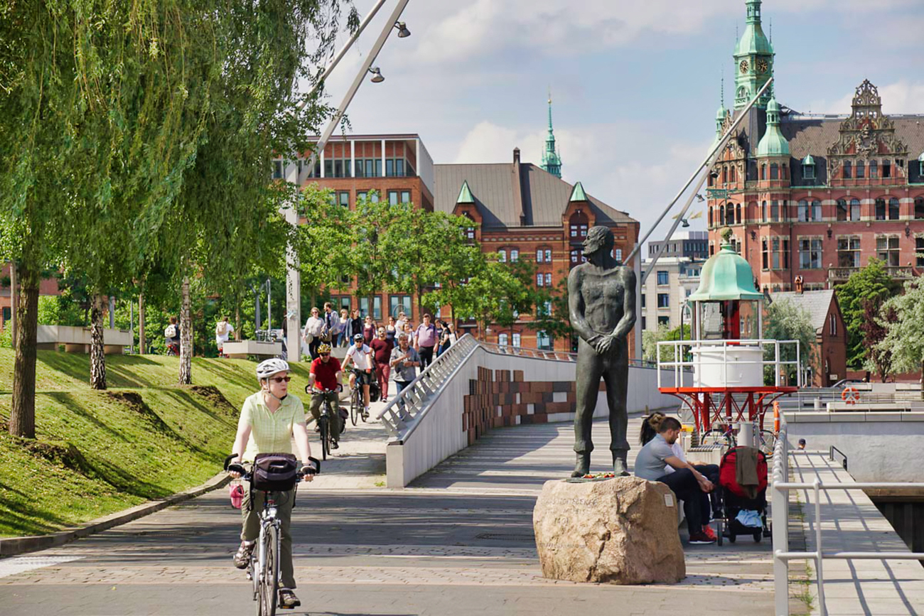
[[(760, 27), (761, 0), (747, 0), (748, 24), (735, 47), (735, 108), (748, 105), (751, 97), (773, 74), (773, 46)], [(766, 109), (773, 94), (773, 86), (767, 89), (756, 103)]]

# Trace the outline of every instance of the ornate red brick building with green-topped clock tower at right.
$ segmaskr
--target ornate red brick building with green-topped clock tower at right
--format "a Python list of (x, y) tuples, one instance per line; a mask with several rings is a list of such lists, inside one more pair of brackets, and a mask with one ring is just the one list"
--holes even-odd
[[(760, 0), (734, 54), (736, 103), (720, 106), (717, 139), (773, 72), (760, 27)], [(779, 79), (779, 76), (777, 77)], [(805, 115), (776, 102), (772, 88), (736, 129), (709, 180), (710, 249), (730, 226), (760, 289), (833, 288), (885, 260), (898, 280), (924, 271), (924, 115), (885, 115), (869, 80), (850, 115)]]

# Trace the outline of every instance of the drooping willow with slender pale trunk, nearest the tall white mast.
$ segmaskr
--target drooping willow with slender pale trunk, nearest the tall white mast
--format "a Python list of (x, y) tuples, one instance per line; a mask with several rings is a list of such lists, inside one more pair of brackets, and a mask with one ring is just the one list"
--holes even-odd
[[(340, 28), (340, 6), (340, 0), (237, 0), (213, 16), (221, 71), (209, 83), (205, 140), (169, 209), (171, 233), (164, 239), (178, 255), (183, 281), (181, 384), (192, 380), (189, 276), (223, 264), (246, 270), (265, 260), (266, 250), (283, 262), (294, 232), (280, 210), (297, 207), (297, 196), (294, 187), (274, 185), (272, 162), (308, 151), (310, 135), (332, 113), (318, 102), (318, 91), (298, 94), (296, 86), (317, 77)], [(355, 9), (346, 25), (359, 25)]]

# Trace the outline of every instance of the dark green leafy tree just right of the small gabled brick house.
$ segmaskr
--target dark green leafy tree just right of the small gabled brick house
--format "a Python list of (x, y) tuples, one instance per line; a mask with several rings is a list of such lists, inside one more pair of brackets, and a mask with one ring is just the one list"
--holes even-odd
[(900, 286), (889, 276), (885, 263), (869, 258), (866, 267), (854, 272), (845, 284), (836, 287), (837, 301), (841, 305), (847, 328), (847, 366), (859, 369), (867, 357), (869, 347), (863, 344), (863, 324), (866, 322), (865, 302), (881, 306), (894, 296)]

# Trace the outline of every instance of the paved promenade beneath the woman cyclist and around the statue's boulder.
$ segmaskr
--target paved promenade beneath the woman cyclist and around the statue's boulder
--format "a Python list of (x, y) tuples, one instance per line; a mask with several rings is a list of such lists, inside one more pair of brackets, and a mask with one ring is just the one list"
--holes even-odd
[[(638, 432), (638, 418), (630, 431)], [(603, 470), (605, 423), (594, 425), (594, 440), (594, 468)], [(293, 524), (302, 608), (287, 613), (772, 614), (770, 545), (750, 539), (685, 546), (687, 578), (675, 586), (542, 578), (532, 508), (542, 483), (572, 467), (572, 442), (567, 424), (494, 429), (408, 489), (389, 490), (374, 486), (384, 472), (383, 430), (348, 428), (323, 477), (299, 490)], [(231, 565), (238, 520), (220, 489), (0, 562), (0, 613), (254, 613), (244, 574)]]

